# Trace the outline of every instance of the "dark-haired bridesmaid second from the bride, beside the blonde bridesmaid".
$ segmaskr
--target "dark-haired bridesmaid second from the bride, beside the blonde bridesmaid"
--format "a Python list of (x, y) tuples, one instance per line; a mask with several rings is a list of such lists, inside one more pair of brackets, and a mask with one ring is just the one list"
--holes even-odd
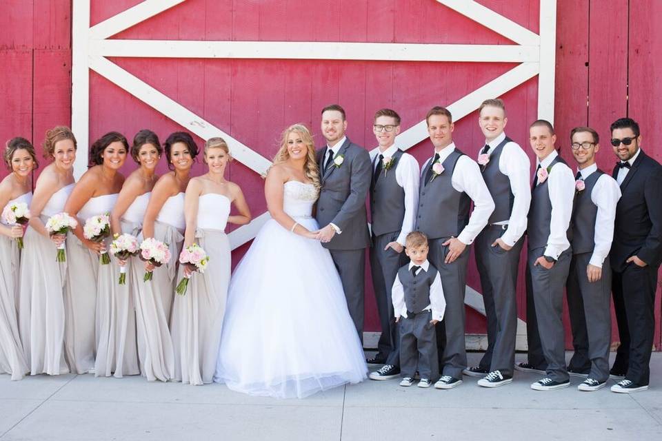
[[(152, 189), (143, 221), (143, 236), (168, 244), (172, 258), (160, 268), (148, 263), (134, 265), (134, 278), (138, 285), (138, 352), (142, 373), (150, 381), (168, 381), (174, 374), (168, 322), (176, 283), (177, 258), (184, 239), (184, 190), (188, 185), (193, 159), (198, 154), (195, 141), (185, 132), (168, 136), (163, 147), (171, 171), (161, 176)], [(143, 283), (146, 271), (153, 271), (152, 280)]]

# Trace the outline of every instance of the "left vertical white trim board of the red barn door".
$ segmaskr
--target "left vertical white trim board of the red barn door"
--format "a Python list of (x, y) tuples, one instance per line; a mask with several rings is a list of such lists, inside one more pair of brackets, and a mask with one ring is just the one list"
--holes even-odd
[(88, 170), (88, 145), (90, 145), (90, 72), (88, 72), (90, 0), (73, 1), (71, 130), (76, 134), (78, 143), (74, 162), (74, 177), (78, 179)]

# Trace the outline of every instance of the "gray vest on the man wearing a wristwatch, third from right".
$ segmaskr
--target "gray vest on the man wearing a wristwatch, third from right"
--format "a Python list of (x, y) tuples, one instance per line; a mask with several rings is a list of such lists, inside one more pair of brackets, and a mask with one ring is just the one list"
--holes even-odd
[[(556, 156), (549, 165), (551, 171), (556, 163), (565, 161), (561, 156)], [(567, 165), (567, 164), (566, 164)], [(546, 247), (550, 238), (550, 225), (552, 223), (552, 201), (550, 200), (549, 178), (545, 182), (531, 189), (531, 206), (529, 207), (527, 234), (529, 236), (528, 249)], [(572, 235), (572, 229), (568, 227), (568, 239)]]

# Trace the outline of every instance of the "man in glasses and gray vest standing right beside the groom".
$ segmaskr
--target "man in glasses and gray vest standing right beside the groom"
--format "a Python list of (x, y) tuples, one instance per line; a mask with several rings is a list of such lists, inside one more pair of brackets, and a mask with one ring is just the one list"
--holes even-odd
[(400, 338), (396, 327), (391, 288), (399, 269), (405, 265), (405, 238), (414, 229), (419, 199), (419, 163), (395, 145), (400, 133), (400, 116), (391, 109), (374, 114), (372, 131), (379, 152), (372, 156), (370, 214), (372, 285), (381, 322), (377, 356), (368, 363), (384, 364), (370, 373), (372, 380), (397, 378), (400, 373)]

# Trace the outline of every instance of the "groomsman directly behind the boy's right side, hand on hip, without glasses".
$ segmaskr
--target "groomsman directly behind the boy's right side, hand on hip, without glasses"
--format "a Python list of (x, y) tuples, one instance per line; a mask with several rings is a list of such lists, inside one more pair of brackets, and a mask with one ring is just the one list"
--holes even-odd
[[(425, 121), (434, 156), (421, 172), (415, 229), (430, 238), (428, 258), (439, 270), (446, 300), (444, 322), (437, 325), (441, 378), (434, 387), (452, 389), (462, 383), (462, 371), (467, 367), (464, 293), (468, 245), (488, 224), (494, 201), (478, 164), (453, 143), (450, 112), (432, 107)], [(470, 215), (472, 201), (474, 210)]]

